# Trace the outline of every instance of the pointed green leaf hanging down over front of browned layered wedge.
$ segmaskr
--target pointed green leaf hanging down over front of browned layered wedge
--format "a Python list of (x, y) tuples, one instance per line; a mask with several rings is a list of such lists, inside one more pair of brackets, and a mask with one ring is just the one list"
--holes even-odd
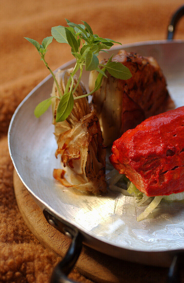
[(73, 109), (74, 99), (72, 95), (72, 91), (63, 95), (58, 104), (57, 112), (56, 112), (56, 122), (65, 121), (69, 116)]

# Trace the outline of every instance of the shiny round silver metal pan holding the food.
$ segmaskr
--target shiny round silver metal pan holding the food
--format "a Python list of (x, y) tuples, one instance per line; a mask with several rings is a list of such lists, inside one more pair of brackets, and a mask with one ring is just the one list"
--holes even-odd
[[(176, 107), (184, 105), (184, 42), (154, 41), (118, 46), (154, 56), (166, 76), (168, 90)], [(103, 58), (107, 54), (103, 53)], [(102, 58), (101, 57), (101, 58)], [(71, 67), (69, 62), (63, 68)], [(88, 73), (83, 77), (87, 85)], [(64, 188), (52, 177), (60, 168), (55, 158), (51, 109), (39, 119), (35, 106), (49, 97), (52, 78), (48, 76), (23, 100), (14, 113), (9, 131), (10, 156), (29, 193), (41, 209), (47, 208), (69, 225), (77, 227), (84, 243), (117, 258), (139, 263), (167, 266), (174, 250), (184, 250), (184, 202), (164, 202), (147, 219), (137, 222), (144, 209), (136, 207), (132, 197), (109, 191), (106, 196), (89, 196)]]

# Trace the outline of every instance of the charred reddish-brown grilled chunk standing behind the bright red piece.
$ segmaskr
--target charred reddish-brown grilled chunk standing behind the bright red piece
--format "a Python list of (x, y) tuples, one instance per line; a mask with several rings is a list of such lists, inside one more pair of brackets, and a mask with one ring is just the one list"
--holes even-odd
[[(103, 78), (101, 88), (93, 94), (105, 145), (112, 144), (144, 119), (168, 110), (168, 103), (171, 102), (165, 78), (153, 57), (120, 50), (112, 61), (128, 67), (132, 78), (120, 80), (106, 72), (108, 78)], [(90, 90), (94, 87), (96, 76), (96, 71), (92, 71)]]

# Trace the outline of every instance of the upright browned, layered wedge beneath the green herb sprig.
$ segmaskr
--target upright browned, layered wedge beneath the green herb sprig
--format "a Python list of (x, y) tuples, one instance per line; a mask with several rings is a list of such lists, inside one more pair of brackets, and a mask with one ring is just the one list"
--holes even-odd
[[(56, 79), (61, 93), (65, 91), (71, 69), (58, 70)], [(73, 88), (78, 78), (74, 76)], [(80, 82), (73, 97), (86, 94), (86, 89)], [(59, 97), (54, 82), (52, 88), (52, 111), (55, 136), (58, 143), (56, 157), (61, 155), (62, 169), (54, 169), (54, 178), (66, 187), (75, 187), (85, 192), (98, 194), (106, 192), (105, 157), (102, 132), (93, 105), (86, 97), (74, 100), (74, 107), (67, 119), (56, 122), (56, 110)]]

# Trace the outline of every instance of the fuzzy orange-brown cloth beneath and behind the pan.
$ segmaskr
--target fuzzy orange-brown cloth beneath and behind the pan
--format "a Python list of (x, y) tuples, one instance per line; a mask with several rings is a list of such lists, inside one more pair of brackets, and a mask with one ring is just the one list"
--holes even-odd
[[(165, 39), (170, 17), (182, 4), (179, 0), (1, 0), (0, 282), (49, 282), (52, 268), (60, 260), (43, 248), (24, 224), (12, 185), (8, 125), (21, 100), (49, 74), (36, 49), (23, 37), (41, 42), (51, 35), (52, 26), (65, 25), (64, 18), (68, 18), (76, 23), (85, 20), (101, 37), (122, 43)], [(176, 38), (184, 39), (184, 19)], [(46, 58), (54, 70), (72, 55), (67, 44), (53, 40)], [(77, 271), (70, 276), (91, 282)]]

